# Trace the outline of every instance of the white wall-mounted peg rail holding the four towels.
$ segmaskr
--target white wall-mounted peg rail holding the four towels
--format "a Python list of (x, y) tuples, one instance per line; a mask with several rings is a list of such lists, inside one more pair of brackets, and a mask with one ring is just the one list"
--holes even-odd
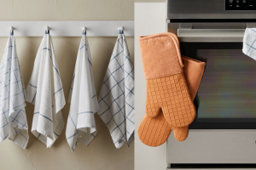
[(9, 36), (10, 26), (15, 37), (42, 37), (46, 26), (52, 37), (80, 37), (83, 27), (88, 37), (116, 37), (122, 26), (125, 37), (134, 37), (133, 20), (0, 21), (0, 37)]

